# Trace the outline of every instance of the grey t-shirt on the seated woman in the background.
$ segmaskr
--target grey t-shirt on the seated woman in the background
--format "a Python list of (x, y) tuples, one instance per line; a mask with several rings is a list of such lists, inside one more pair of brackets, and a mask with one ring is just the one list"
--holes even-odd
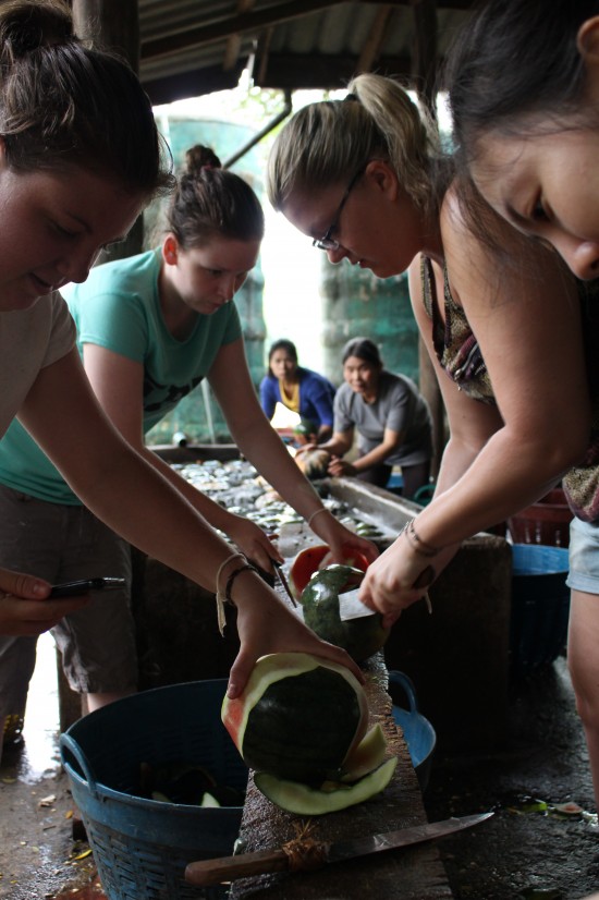
[(368, 453), (382, 441), (384, 429), (402, 431), (404, 439), (388, 457), (388, 465), (416, 465), (432, 455), (432, 418), (428, 403), (406, 375), (383, 369), (378, 397), (366, 403), (362, 394), (343, 384), (334, 398), (334, 430), (358, 433), (360, 453)]

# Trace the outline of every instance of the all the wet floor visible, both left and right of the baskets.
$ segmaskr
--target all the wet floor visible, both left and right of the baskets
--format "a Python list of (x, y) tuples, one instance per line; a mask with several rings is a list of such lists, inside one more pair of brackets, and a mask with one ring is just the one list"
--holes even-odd
[[(88, 847), (73, 840), (73, 805), (58, 763), (53, 647), (44, 644), (25, 743), (0, 768), (0, 898), (101, 898)], [(497, 752), (436, 753), (424, 798), (430, 820), (496, 811), (439, 842), (456, 900), (582, 900), (599, 890), (599, 829), (563, 658), (514, 685), (509, 733)], [(567, 801), (580, 807), (578, 816), (555, 813)]]

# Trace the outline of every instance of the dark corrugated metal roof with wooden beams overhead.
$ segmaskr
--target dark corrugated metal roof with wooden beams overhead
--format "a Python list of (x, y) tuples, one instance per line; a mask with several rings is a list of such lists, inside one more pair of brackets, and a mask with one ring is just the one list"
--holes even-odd
[(155, 104), (233, 87), (247, 65), (255, 84), (274, 88), (341, 87), (358, 71), (406, 76), (427, 44), (443, 56), (470, 5), (139, 0), (139, 75)]

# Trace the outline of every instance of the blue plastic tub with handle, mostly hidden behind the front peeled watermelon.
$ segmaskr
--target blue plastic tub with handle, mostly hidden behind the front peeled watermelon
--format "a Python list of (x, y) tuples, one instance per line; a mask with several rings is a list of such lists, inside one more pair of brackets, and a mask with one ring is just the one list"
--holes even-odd
[[(416, 689), (404, 672), (389, 672), (389, 694), (393, 701), (393, 718), (403, 731), (412, 765), (421, 790), (428, 785), (432, 752), (437, 744), (437, 732), (425, 716), (418, 712)], [(401, 705), (407, 700), (408, 709)]]

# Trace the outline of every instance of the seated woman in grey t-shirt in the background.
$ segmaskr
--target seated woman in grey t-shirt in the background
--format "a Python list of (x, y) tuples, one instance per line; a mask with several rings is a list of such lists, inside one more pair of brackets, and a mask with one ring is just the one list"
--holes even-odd
[[(331, 454), (329, 473), (355, 475), (384, 487), (400, 465), (404, 497), (428, 484), (432, 419), (428, 403), (405, 375), (388, 372), (369, 338), (353, 338), (343, 348), (343, 377), (334, 399), (334, 434), (320, 446)], [(358, 433), (358, 458), (341, 459)]]

